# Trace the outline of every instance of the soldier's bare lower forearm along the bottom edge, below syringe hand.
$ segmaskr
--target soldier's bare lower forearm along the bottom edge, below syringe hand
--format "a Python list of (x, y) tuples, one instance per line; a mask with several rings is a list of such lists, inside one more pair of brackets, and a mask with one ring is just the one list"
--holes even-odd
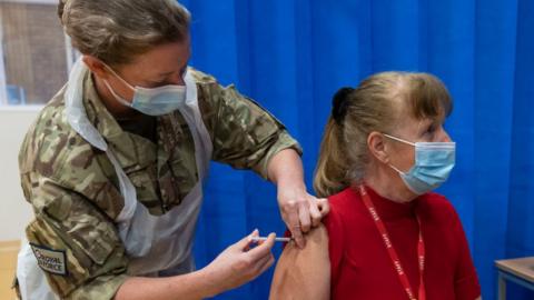
[(216, 286), (204, 269), (167, 278), (132, 277), (120, 286), (115, 299), (204, 299), (221, 292)]

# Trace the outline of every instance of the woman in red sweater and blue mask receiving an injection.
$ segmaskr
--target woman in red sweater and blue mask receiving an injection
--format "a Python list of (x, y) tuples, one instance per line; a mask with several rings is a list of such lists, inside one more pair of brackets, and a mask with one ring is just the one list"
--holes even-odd
[(425, 73), (378, 73), (336, 93), (314, 182), (330, 213), (304, 249), (285, 248), (271, 299), (479, 298), (458, 216), (431, 192), (454, 167), (451, 111)]

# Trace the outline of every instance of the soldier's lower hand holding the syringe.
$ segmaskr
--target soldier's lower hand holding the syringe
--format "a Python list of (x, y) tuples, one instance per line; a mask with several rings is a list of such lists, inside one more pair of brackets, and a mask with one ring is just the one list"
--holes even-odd
[(250, 248), (251, 237), (258, 237), (258, 230), (245, 237), (237, 243), (228, 247), (202, 271), (218, 287), (218, 292), (237, 288), (256, 279), (275, 262), (271, 248), (275, 243), (275, 233), (270, 233), (266, 241)]

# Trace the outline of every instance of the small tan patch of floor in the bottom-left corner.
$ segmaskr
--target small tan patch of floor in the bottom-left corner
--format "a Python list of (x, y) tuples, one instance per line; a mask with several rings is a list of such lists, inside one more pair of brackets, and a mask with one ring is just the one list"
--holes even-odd
[(14, 292), (11, 290), (11, 284), (17, 268), (19, 247), (20, 241), (0, 242), (0, 299), (17, 299)]

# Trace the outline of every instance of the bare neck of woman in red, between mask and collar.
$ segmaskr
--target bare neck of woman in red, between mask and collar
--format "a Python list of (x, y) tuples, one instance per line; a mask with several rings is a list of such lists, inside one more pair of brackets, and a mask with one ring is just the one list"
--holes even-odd
[(398, 173), (388, 166), (369, 166), (364, 176), (364, 183), (379, 196), (395, 202), (407, 203), (417, 198), (417, 194), (406, 188)]

